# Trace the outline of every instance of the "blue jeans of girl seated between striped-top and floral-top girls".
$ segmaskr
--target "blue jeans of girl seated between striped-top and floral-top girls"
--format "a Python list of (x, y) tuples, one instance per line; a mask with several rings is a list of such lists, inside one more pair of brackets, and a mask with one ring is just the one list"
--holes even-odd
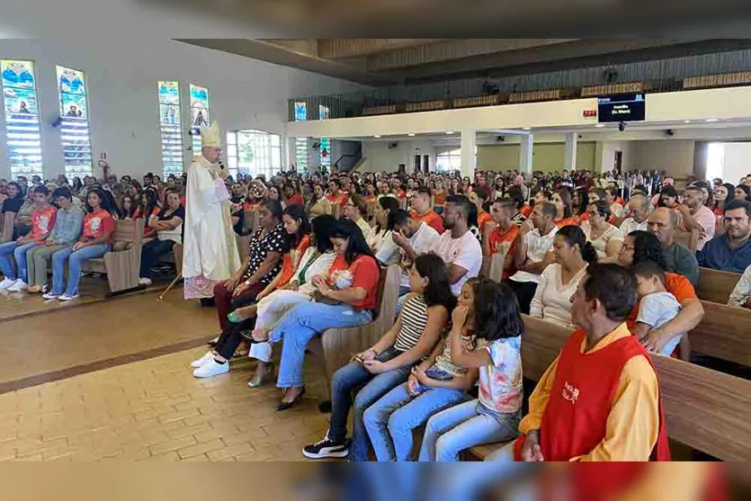
[(412, 430), (430, 416), (464, 401), (462, 389), (428, 388), (417, 397), (407, 383), (392, 389), (368, 407), (363, 416), (378, 461), (408, 461), (412, 452)]

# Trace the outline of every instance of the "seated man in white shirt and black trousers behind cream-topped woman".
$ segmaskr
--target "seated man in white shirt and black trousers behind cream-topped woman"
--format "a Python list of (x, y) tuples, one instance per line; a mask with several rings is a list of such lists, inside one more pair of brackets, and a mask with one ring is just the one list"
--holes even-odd
[(522, 313), (530, 314), (530, 304), (540, 283), (540, 275), (555, 261), (552, 253), (553, 239), (558, 233), (553, 219), (556, 206), (550, 201), (536, 203), (532, 215), (519, 229), (519, 242), (514, 253), (514, 265), (518, 270), (506, 283), (516, 294)]

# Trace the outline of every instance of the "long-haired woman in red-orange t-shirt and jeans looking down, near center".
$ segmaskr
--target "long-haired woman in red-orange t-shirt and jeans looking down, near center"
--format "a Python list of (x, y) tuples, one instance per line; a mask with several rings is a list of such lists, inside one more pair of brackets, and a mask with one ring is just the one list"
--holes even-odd
[(340, 220), (331, 240), (336, 260), (327, 277), (319, 275), (310, 281), (317, 288), (314, 300), (288, 311), (268, 338), (254, 335), (257, 343), (284, 341), (276, 383), (284, 397), (277, 410), (291, 408), (305, 393), (302, 365), (310, 339), (329, 328), (367, 324), (378, 307), (380, 271), (360, 228), (350, 220)]

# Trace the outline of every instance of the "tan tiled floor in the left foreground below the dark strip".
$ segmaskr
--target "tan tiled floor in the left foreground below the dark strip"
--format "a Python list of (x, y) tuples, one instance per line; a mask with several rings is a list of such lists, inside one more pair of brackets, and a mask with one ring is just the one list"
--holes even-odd
[[(0, 395), (0, 461), (300, 461), (326, 433), (326, 393), (308, 367), (302, 405), (277, 413), (269, 382), (249, 389), (254, 364), (196, 380), (203, 348)], [(312, 365), (312, 364), (309, 364)]]

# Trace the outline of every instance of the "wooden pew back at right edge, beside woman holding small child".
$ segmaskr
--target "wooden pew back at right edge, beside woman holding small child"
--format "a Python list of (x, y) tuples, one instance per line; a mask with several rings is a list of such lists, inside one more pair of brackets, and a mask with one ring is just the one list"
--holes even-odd
[(691, 349), (751, 367), (751, 310), (702, 300), (704, 318), (689, 334)]

